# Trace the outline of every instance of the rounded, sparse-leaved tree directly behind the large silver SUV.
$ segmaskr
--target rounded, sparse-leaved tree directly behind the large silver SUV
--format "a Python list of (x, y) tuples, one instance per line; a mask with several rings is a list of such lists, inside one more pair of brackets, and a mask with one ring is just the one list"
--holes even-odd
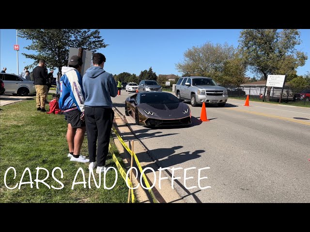
[(184, 60), (177, 63), (176, 69), (186, 76), (212, 77), (216, 81), (223, 75), (225, 62), (233, 58), (233, 46), (227, 43), (204, 43), (202, 46), (193, 46), (184, 53)]

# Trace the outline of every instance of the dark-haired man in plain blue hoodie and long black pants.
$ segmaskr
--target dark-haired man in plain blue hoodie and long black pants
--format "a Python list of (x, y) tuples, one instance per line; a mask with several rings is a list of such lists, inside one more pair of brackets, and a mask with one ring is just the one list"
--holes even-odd
[(83, 76), (89, 169), (97, 168), (98, 174), (104, 172), (108, 156), (114, 118), (111, 97), (114, 98), (117, 95), (113, 75), (103, 69), (105, 62), (106, 57), (103, 54), (94, 53), (93, 66)]

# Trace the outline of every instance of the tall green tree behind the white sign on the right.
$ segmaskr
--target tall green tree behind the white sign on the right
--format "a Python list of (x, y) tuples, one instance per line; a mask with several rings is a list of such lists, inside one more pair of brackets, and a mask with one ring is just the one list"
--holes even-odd
[(253, 73), (287, 75), (287, 81), (296, 77), (296, 69), (303, 66), (307, 56), (297, 51), (300, 44), (298, 29), (244, 29), (240, 32), (239, 48)]

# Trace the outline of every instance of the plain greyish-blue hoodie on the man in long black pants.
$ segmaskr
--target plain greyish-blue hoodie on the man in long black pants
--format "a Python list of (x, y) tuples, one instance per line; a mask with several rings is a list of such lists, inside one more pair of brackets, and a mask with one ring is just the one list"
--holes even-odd
[(83, 76), (85, 106), (112, 108), (111, 97), (117, 95), (117, 87), (111, 73), (99, 66), (90, 67)]

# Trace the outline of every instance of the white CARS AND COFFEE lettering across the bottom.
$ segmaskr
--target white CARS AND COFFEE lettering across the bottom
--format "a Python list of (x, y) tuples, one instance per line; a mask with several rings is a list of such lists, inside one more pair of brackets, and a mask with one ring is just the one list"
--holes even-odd
[[(130, 168), (127, 171), (126, 180), (128, 179), (127, 176), (129, 176), (131, 169), (133, 169), (133, 174), (136, 174), (136, 176), (135, 175), (133, 175), (133, 176), (135, 178), (137, 178), (138, 170), (135, 167), (132, 167), (132, 168)], [(172, 189), (173, 189), (173, 184), (174, 184), (175, 180), (178, 180), (180, 183), (183, 183), (183, 185), (184, 185), (184, 187), (186, 189), (192, 189), (192, 188), (200, 188), (200, 189), (211, 188), (210, 186), (205, 186), (205, 182), (206, 182), (205, 179), (208, 178), (207, 176), (205, 176), (205, 170), (207, 170), (207, 169), (210, 169), (210, 167), (199, 168), (198, 172), (197, 172), (197, 168), (196, 167), (190, 167), (190, 168), (185, 168), (185, 169), (183, 169), (183, 168), (174, 168), (174, 167), (172, 167), (172, 168), (161, 168), (160, 167), (158, 169), (159, 174), (158, 174), (158, 176), (156, 176), (156, 173), (155, 173), (154, 169), (151, 168), (151, 167), (147, 167), (147, 168), (143, 169), (143, 172), (140, 175), (140, 183), (141, 183), (141, 187), (142, 188), (150, 189), (150, 188), (153, 188), (155, 186), (155, 184), (156, 184), (156, 181), (158, 181), (158, 187), (159, 187), (159, 189), (161, 189), (161, 181), (164, 180), (164, 179), (168, 179), (168, 177), (165, 176), (165, 174), (162, 174), (162, 171), (163, 170), (170, 170), (171, 171), (171, 188)], [(37, 168), (35, 168), (35, 170), (36, 170), (35, 171), (35, 173), (36, 173), (35, 174), (35, 179), (32, 178), (31, 171), (27, 167), (27, 168), (25, 168), (23, 174), (21, 175), (21, 178), (18, 180), (18, 179), (16, 179), (16, 169), (14, 167), (9, 167), (5, 171), (5, 173), (4, 173), (4, 179), (3, 180), (4, 180), (5, 187), (8, 188), (8, 189), (15, 189), (15, 188), (21, 189), (22, 186), (24, 186), (24, 185), (25, 186), (29, 185), (31, 188), (33, 188), (33, 185), (35, 185), (36, 188), (53, 188), (53, 189), (62, 189), (62, 188), (64, 188), (64, 184), (60, 180), (60, 179), (63, 178), (63, 172), (62, 172), (62, 169), (60, 167), (55, 167), (52, 170), (51, 176), (49, 175), (49, 171), (46, 168), (37, 167)], [(145, 187), (143, 185), (143, 181), (142, 181), (142, 174), (146, 170), (151, 170), (151, 172), (154, 175), (154, 183), (153, 183), (152, 186), (150, 186), (150, 188)], [(176, 170), (183, 170), (183, 174), (177, 176), (175, 174)], [(197, 175), (197, 177), (198, 177), (197, 186), (196, 185), (188, 186), (188, 183), (186, 184), (186, 180), (194, 178), (194, 176), (192, 174), (189, 174), (189, 170), (193, 170), (193, 171), (196, 172), (195, 175)], [(193, 171), (191, 171), (191, 173)], [(72, 181), (71, 189), (74, 189), (76, 185), (83, 185), (84, 188), (87, 188), (86, 187), (87, 184), (88, 184), (88, 188), (92, 188), (91, 187), (91, 183), (92, 182), (96, 186), (96, 188), (102, 188), (102, 181), (101, 181), (102, 178), (103, 178), (103, 188), (105, 188), (105, 189), (112, 189), (116, 185), (118, 174), (117, 174), (117, 170), (114, 167), (104, 168), (103, 172), (101, 172), (98, 175), (95, 175), (93, 173), (93, 169), (89, 170), (88, 172), (89, 172), (89, 176), (88, 176), (88, 182), (87, 182), (86, 178), (85, 178), (84, 170), (82, 168), (79, 168), (77, 173), (75, 174), (75, 177), (74, 177), (73, 181)], [(106, 174), (108, 172), (114, 172), (115, 173), (115, 181), (114, 181), (112, 186), (106, 186)], [(29, 176), (24, 177), (26, 173), (28, 173)], [(204, 174), (202, 174), (202, 173), (204, 173)], [(39, 176), (42, 176), (42, 175), (45, 175), (45, 178), (39, 179)], [(56, 178), (55, 175), (60, 176), (60, 177)], [(57, 183), (55, 183), (55, 186), (54, 185), (48, 185), (45, 182), (48, 178), (52, 178), (54, 181), (57, 182)], [(77, 182), (77, 179), (80, 179), (80, 178), (82, 178), (82, 181)], [(14, 182), (14, 184), (13, 185), (8, 185), (7, 184), (7, 182), (8, 182), (7, 180), (10, 180), (9, 181), (10, 183)], [(205, 180), (205, 181), (203, 181), (203, 180)], [(127, 183), (127, 181), (126, 181), (126, 185), (127, 185), (128, 188), (131, 188), (129, 186), (129, 184)], [(134, 187), (133, 189), (139, 188), (139, 186), (140, 186), (140, 184), (138, 184), (138, 186)]]

